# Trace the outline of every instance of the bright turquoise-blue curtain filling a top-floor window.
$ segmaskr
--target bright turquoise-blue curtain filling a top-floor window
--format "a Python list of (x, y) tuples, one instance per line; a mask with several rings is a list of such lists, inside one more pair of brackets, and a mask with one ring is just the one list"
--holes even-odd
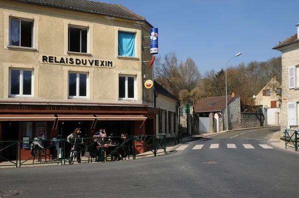
[(118, 35), (119, 56), (135, 56), (135, 33), (120, 32)]

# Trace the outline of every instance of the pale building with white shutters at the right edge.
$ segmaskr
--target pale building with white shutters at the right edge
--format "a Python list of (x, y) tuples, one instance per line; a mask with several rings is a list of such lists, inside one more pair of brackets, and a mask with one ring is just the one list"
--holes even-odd
[[(297, 24), (299, 33), (299, 24)], [(282, 52), (281, 136), (288, 128), (299, 125), (299, 37), (298, 33), (273, 49)]]

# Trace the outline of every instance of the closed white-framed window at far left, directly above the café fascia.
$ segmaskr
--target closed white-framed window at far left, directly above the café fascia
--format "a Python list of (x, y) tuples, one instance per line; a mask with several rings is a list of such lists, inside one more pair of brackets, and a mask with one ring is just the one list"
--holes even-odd
[(33, 97), (33, 92), (32, 70), (9, 70), (9, 97)]

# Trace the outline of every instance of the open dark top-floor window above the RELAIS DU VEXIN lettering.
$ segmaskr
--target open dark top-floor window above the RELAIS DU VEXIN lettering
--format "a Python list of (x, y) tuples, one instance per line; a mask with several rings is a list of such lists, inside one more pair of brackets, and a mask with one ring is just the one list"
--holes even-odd
[(88, 53), (88, 28), (68, 26), (68, 51)]

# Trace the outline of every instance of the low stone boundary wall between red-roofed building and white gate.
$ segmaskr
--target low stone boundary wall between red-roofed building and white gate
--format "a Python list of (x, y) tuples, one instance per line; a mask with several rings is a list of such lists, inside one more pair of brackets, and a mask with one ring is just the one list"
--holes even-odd
[[(264, 123), (263, 114), (262, 123)], [(251, 128), (260, 126), (260, 113), (241, 112), (241, 128)]]

